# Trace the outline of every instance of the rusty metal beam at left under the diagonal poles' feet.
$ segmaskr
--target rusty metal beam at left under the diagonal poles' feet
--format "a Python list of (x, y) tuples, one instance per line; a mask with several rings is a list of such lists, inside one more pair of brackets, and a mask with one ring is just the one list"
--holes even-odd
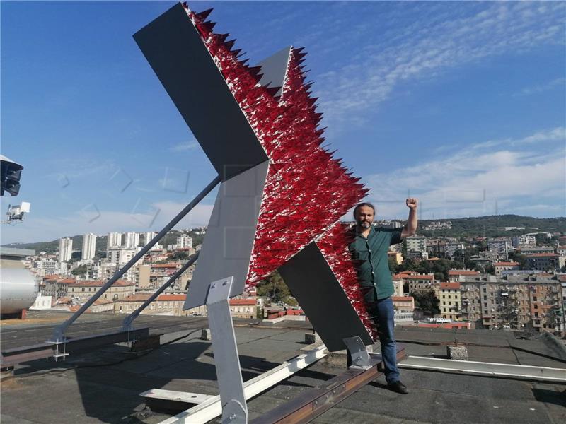
[[(67, 338), (65, 350), (67, 352), (81, 351), (114, 343), (137, 341), (147, 336), (149, 336), (149, 328), (136, 329), (129, 332), (117, 331), (95, 336)], [(22, 346), (21, 348), (6, 349), (6, 351), (1, 352), (0, 367), (9, 367), (30, 360), (51, 358), (55, 355), (56, 349), (57, 346), (53, 343), (40, 343), (32, 346)]]

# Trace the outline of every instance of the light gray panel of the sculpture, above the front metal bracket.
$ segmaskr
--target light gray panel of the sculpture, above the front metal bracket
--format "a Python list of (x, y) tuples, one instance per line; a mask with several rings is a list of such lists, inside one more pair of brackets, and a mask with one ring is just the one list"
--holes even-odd
[(222, 182), (184, 309), (204, 305), (212, 281), (233, 276), (230, 297), (243, 293), (258, 225), (268, 162)]

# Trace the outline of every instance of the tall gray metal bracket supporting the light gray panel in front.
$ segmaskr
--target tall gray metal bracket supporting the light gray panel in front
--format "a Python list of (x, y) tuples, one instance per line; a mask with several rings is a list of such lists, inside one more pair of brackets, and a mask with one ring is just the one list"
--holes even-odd
[(236, 334), (229, 308), (233, 277), (213, 281), (207, 294), (207, 313), (212, 352), (220, 389), (222, 424), (248, 423), (248, 406), (243, 393), (242, 372)]

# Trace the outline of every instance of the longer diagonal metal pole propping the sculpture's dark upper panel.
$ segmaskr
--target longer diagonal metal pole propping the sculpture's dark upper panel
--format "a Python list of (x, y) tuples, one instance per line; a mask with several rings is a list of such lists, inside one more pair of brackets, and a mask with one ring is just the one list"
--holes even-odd
[(200, 192), (195, 199), (192, 199), (192, 201), (190, 202), (190, 204), (188, 204), (187, 206), (185, 206), (185, 208), (183, 209), (183, 211), (180, 211), (178, 213), (177, 216), (175, 216), (175, 218), (173, 218), (164, 228), (163, 230), (161, 230), (160, 232), (158, 232), (158, 234), (151, 239), (151, 242), (149, 242), (147, 245), (145, 245), (139, 252), (138, 254), (136, 254), (136, 256), (134, 256), (132, 259), (130, 259), (130, 261), (125, 264), (125, 266), (122, 267), (122, 269), (120, 269), (119, 271), (117, 271), (114, 276), (112, 276), (112, 278), (110, 278), (110, 280), (108, 280), (101, 288), (100, 290), (98, 290), (98, 292), (95, 293), (95, 295), (93, 295), (92, 298), (88, 299), (86, 301), (86, 303), (81, 307), (81, 309), (79, 309), (78, 311), (76, 311), (69, 319), (67, 319), (67, 321), (63, 322), (62, 324), (56, 326), (53, 330), (53, 336), (52, 336), (52, 343), (63, 343), (64, 342), (64, 335), (65, 335), (65, 331), (67, 331), (67, 328), (69, 328), (69, 326), (71, 324), (73, 324), (73, 322), (75, 322), (75, 320), (77, 318), (79, 318), (81, 316), (81, 314), (83, 314), (83, 312), (85, 312), (88, 307), (91, 307), (91, 305), (96, 302), (96, 300), (98, 298), (100, 298), (100, 296), (103, 295), (103, 293), (108, 290), (108, 288), (110, 288), (110, 286), (112, 284), (114, 284), (122, 275), (124, 275), (124, 273), (132, 268), (132, 266), (139, 261), (139, 259), (141, 259), (142, 257), (144, 257), (144, 254), (146, 254), (147, 252), (149, 252), (149, 249), (151, 249), (151, 247), (154, 247), (154, 245), (161, 240), (161, 238), (166, 235), (166, 233), (171, 230), (171, 228), (173, 228), (180, 220), (182, 220), (185, 215), (187, 215), (187, 213), (190, 212), (190, 210), (192, 208), (194, 208), (195, 206), (197, 206), (197, 204), (204, 199), (204, 196), (207, 196), (207, 194), (209, 194), (209, 192), (212, 191), (212, 189), (214, 189), (214, 187), (216, 187), (216, 185), (219, 184), (219, 182), (221, 182), (222, 178), (220, 177), (220, 175), (216, 176), (216, 178), (214, 178), (212, 180), (212, 182), (210, 182), (207, 187), (204, 187), (204, 189), (202, 190), (202, 192)]

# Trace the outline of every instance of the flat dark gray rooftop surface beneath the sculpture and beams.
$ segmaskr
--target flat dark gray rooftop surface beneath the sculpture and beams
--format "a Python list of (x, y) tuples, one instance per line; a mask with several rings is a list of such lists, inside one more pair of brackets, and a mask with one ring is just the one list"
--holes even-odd
[[(47, 340), (52, 327), (69, 314), (30, 312), (26, 322), (2, 321), (2, 349)], [(84, 314), (69, 336), (118, 329), (122, 317)], [(281, 322), (266, 328), (257, 320), (236, 319), (238, 351), (246, 381), (270, 370), (306, 347), (306, 322)], [(198, 338), (205, 317), (141, 316), (137, 326), (161, 333), (153, 351), (130, 353), (112, 345), (67, 360), (36, 360), (19, 365), (1, 384), (3, 424), (11, 423), (159, 423), (168, 415), (145, 408), (139, 396), (149, 389), (218, 394), (211, 343)], [(454, 331), (397, 327), (408, 355), (444, 357)], [(187, 334), (190, 334), (187, 336)], [(183, 338), (183, 336), (186, 336)], [(560, 348), (544, 338), (521, 340), (512, 331), (458, 330), (470, 360), (565, 368)], [(436, 344), (435, 344), (436, 343)], [(515, 349), (510, 348), (510, 346)], [(555, 358), (555, 359), (553, 359)], [(248, 402), (250, 418), (260, 416), (345, 369), (320, 360)], [(385, 388), (383, 377), (352, 394), (313, 423), (564, 423), (566, 385), (445, 372), (401, 370), (408, 395)], [(219, 420), (212, 421), (214, 423)]]

